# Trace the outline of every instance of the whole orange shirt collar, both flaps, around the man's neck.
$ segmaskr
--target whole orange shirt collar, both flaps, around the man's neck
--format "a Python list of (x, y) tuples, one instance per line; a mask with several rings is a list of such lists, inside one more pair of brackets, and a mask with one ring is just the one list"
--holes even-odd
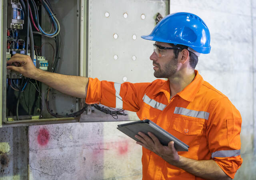
[[(195, 70), (194, 80), (192, 80), (192, 82), (190, 82), (190, 84), (188, 84), (188, 86), (186, 86), (181, 92), (178, 92), (177, 95), (186, 101), (192, 102), (199, 88), (203, 84), (203, 82), (204, 80), (202, 76), (198, 73), (197, 70)], [(168, 102), (169, 102), (170, 100), (170, 81), (169, 80), (161, 84), (161, 87), (158, 90), (156, 90), (153, 96), (155, 96), (160, 92), (163, 92), (166, 95), (166, 98), (168, 99)]]

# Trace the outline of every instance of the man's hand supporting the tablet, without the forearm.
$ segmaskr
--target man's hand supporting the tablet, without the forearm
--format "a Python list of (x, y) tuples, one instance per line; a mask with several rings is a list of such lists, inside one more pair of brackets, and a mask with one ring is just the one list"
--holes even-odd
[(170, 164), (177, 164), (179, 162), (180, 156), (174, 148), (173, 141), (170, 141), (168, 143), (168, 146), (163, 146), (158, 138), (151, 132), (148, 132), (148, 136), (142, 132), (139, 132), (138, 134), (140, 136), (136, 135), (135, 138), (137, 138), (141, 142), (137, 142), (137, 144), (140, 144), (144, 148), (147, 148), (148, 150), (154, 152)]

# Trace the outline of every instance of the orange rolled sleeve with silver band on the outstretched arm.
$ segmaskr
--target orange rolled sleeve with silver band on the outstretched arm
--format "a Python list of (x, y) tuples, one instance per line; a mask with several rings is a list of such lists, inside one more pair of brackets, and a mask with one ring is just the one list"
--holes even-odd
[(100, 103), (113, 108), (121, 107), (124, 110), (137, 112), (148, 84), (150, 83), (124, 82), (119, 84), (89, 78), (85, 102), (87, 104)]

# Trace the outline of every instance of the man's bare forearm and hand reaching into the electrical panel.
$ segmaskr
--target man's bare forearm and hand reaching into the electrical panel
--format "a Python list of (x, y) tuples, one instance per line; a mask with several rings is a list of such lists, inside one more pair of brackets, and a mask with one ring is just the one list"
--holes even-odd
[(7, 69), (19, 72), (69, 96), (86, 98), (89, 79), (81, 76), (69, 76), (40, 70), (34, 66), (30, 56), (15, 54), (7, 61)]

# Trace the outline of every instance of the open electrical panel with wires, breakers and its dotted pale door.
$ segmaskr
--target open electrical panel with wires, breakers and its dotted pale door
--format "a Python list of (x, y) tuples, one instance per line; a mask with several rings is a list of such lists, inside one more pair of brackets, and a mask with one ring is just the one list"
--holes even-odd
[[(3, 60), (0, 126), (102, 118), (112, 121), (117, 118), (115, 113), (119, 113), (118, 120), (130, 120), (132, 116), (119, 116), (126, 111), (97, 104), (87, 106), (84, 99), (67, 96), (8, 70), (6, 61), (14, 54), (24, 54), (30, 56), (36, 68), (48, 72), (120, 83), (149, 81), (151, 76), (138, 79), (132, 74), (145, 64), (142, 59), (147, 55), (143, 50), (151, 50), (149, 42), (142, 42), (140, 36), (150, 33), (159, 21), (159, 14), (169, 13), (168, 0), (134, 0), (132, 4), (126, 0), (5, 0), (0, 5), (3, 8), (0, 11), (3, 27), (0, 30)], [(134, 6), (141, 8), (134, 9)]]

